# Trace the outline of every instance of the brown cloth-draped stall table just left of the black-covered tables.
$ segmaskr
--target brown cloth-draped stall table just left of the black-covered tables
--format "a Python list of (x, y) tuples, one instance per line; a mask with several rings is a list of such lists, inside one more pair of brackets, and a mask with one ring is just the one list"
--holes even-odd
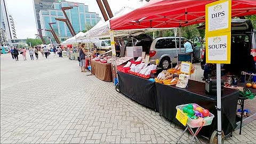
[(91, 60), (92, 75), (99, 78), (101, 81), (112, 82), (111, 63), (101, 63)]

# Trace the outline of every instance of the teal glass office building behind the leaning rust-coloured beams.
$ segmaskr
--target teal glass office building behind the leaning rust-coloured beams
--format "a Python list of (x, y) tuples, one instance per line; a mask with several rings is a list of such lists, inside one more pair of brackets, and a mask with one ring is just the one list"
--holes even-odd
[[(65, 22), (55, 20), (55, 18), (66, 19), (61, 11), (61, 7), (67, 6), (73, 6), (73, 9), (66, 10), (65, 12), (67, 13), (68, 19), (76, 31), (76, 34), (79, 33), (79, 31), (85, 30), (86, 26), (94, 26), (101, 20), (99, 14), (89, 12), (88, 6), (83, 3), (54, 2), (51, 9), (41, 10), (39, 12), (39, 18), (42, 29), (50, 29), (49, 23), (56, 22), (56, 24), (52, 26), (55, 33), (61, 38), (61, 41), (63, 41), (64, 38), (72, 36)], [(52, 36), (49, 31), (45, 30), (42, 30), (42, 35), (46, 37)]]

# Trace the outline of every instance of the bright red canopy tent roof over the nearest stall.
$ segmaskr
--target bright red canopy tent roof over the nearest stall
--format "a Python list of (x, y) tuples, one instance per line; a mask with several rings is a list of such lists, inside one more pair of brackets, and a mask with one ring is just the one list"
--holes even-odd
[[(205, 5), (196, 0), (151, 0), (146, 5), (110, 20), (111, 30), (184, 27), (205, 21)], [(256, 1), (232, 0), (231, 17), (256, 14)]]

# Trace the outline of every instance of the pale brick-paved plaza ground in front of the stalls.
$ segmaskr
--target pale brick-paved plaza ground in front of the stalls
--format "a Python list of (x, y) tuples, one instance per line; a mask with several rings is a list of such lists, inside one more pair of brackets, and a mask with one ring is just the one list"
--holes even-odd
[[(77, 61), (19, 58), (1, 55), (1, 143), (175, 143), (183, 131), (113, 83), (81, 73)], [(225, 143), (256, 143), (255, 129), (256, 120)]]

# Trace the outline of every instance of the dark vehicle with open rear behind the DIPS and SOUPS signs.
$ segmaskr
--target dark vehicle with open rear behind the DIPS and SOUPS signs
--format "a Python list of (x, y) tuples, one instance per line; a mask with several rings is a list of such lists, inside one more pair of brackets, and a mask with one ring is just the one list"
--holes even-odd
[[(204, 29), (205, 26), (198, 28)], [(225, 64), (223, 69), (231, 70), (236, 74), (241, 74), (241, 71), (255, 72), (256, 41), (254, 33), (250, 20), (231, 19), (231, 58), (230, 64)], [(201, 61), (202, 69), (204, 69), (205, 59), (204, 57)]]

